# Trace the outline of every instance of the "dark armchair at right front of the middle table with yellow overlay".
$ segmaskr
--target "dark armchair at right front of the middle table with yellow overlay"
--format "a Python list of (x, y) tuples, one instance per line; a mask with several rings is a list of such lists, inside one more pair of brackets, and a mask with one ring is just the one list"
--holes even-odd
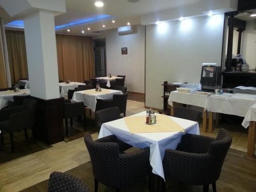
[(103, 110), (107, 108), (114, 108), (117, 106), (119, 108), (119, 113), (123, 113), (125, 117), (126, 104), (127, 104), (128, 94), (114, 94), (113, 99), (97, 99), (96, 110)]

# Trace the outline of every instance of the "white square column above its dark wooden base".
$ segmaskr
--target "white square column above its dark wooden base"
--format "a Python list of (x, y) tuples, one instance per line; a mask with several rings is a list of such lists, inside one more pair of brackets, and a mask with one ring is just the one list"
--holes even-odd
[(24, 19), (31, 96), (59, 98), (54, 14), (36, 11)]

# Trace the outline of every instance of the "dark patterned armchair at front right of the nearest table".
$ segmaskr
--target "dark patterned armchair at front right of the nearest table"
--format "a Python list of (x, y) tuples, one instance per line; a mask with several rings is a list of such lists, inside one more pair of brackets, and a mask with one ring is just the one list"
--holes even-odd
[[(217, 138), (185, 134), (176, 150), (165, 150), (163, 168), (165, 178), (191, 185), (203, 185), (204, 191), (216, 181), (231, 145), (232, 137), (220, 129)], [(163, 182), (163, 186), (165, 182)], [(165, 189), (165, 187), (164, 187)]]

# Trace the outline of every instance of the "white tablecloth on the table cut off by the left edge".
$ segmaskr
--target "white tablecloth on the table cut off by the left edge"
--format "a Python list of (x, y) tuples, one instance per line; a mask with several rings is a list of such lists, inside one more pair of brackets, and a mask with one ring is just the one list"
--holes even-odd
[(13, 101), (14, 95), (29, 95), (29, 89), (20, 90), (20, 92), (14, 91), (1, 91), (0, 92), (0, 110), (8, 106), (8, 101)]

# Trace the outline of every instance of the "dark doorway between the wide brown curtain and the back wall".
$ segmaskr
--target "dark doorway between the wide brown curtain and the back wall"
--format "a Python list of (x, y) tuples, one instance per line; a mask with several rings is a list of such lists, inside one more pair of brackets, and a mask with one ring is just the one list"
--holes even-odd
[(106, 76), (106, 41), (105, 38), (95, 39), (94, 59), (95, 59), (95, 77)]

